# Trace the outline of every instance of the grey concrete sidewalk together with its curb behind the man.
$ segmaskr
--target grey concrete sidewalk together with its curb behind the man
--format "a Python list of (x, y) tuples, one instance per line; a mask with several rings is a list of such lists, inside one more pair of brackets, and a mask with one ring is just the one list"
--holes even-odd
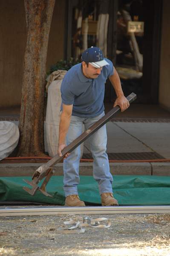
[[(128, 120), (128, 122), (127, 122)], [(170, 176), (170, 162), (154, 162), (159, 159), (170, 159), (170, 119), (160, 120), (133, 120), (113, 119), (107, 123), (107, 153), (116, 156), (135, 155), (145, 156), (146, 162), (139, 163), (119, 161), (110, 163), (113, 175), (162, 175)], [(14, 121), (16, 124), (17, 121)], [(89, 143), (84, 143), (85, 155), (90, 154)], [(130, 154), (131, 153), (131, 154)], [(148, 162), (148, 159), (150, 161)], [(153, 161), (152, 161), (153, 159)], [(30, 176), (42, 163), (0, 163), (0, 176)], [(55, 166), (55, 175), (63, 175), (62, 163)], [(80, 164), (80, 175), (92, 175), (92, 163)]]

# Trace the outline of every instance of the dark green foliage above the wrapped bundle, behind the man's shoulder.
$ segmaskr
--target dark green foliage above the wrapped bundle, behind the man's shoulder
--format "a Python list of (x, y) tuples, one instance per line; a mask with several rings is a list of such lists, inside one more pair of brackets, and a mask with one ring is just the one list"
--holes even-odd
[(75, 60), (74, 58), (70, 58), (68, 61), (58, 61), (56, 64), (52, 65), (50, 67), (49, 72), (47, 73), (47, 75), (50, 75), (52, 72), (56, 71), (56, 70), (69, 70), (72, 66), (80, 63), (81, 61), (79, 61), (78, 59)]

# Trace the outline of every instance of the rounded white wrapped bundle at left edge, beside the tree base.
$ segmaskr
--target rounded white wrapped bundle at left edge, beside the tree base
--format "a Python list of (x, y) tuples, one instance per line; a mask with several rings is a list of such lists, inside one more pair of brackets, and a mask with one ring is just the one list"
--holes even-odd
[(0, 121), (0, 160), (8, 157), (16, 148), (20, 137), (18, 126), (13, 122)]

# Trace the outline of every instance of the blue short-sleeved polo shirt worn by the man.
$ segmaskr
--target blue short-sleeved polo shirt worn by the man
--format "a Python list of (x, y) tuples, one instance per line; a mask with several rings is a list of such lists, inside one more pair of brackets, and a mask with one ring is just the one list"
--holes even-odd
[(73, 66), (64, 76), (61, 84), (62, 103), (73, 105), (72, 115), (80, 117), (94, 117), (104, 111), (104, 89), (109, 76), (113, 75), (113, 64), (102, 68), (96, 79), (84, 76), (81, 63)]

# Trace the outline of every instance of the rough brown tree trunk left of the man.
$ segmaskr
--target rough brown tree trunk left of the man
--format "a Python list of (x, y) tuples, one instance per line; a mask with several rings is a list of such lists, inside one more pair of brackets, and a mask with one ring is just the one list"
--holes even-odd
[(27, 43), (24, 55), (18, 156), (44, 155), (46, 55), (55, 0), (24, 0)]

